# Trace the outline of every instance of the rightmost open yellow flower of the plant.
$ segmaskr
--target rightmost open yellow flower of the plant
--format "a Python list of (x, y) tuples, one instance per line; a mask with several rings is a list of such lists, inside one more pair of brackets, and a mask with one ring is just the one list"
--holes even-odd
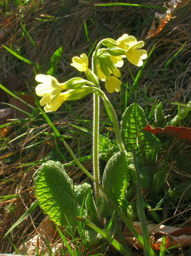
[(131, 42), (128, 45), (128, 49), (125, 53), (127, 60), (137, 67), (141, 67), (143, 64), (142, 60), (147, 58), (147, 51), (140, 49), (143, 46), (143, 41)]

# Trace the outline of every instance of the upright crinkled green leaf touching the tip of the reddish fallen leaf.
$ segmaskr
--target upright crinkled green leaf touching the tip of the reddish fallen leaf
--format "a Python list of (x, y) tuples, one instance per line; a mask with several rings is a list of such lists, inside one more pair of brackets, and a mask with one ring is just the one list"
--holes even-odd
[(146, 116), (143, 109), (133, 103), (122, 116), (121, 136), (127, 151), (135, 149), (136, 156), (146, 164), (148, 160), (149, 150), (156, 147), (160, 148), (160, 141), (150, 132), (142, 131), (147, 124)]

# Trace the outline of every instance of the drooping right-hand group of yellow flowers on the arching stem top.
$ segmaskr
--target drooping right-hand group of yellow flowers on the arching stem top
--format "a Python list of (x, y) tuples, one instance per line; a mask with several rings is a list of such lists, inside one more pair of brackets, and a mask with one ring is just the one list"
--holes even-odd
[(97, 60), (98, 77), (105, 81), (105, 88), (109, 93), (119, 92), (121, 81), (118, 77), (121, 76), (121, 72), (118, 68), (123, 66), (123, 58), (125, 57), (135, 66), (141, 67), (142, 60), (147, 58), (147, 52), (140, 49), (144, 46), (144, 42), (137, 42), (134, 36), (124, 34), (118, 40), (106, 38), (102, 44), (108, 48), (100, 49)]

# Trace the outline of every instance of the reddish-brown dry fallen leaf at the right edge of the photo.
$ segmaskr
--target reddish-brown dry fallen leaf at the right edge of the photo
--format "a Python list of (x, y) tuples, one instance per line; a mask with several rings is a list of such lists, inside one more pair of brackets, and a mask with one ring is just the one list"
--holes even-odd
[(176, 126), (167, 126), (164, 129), (160, 127), (152, 127), (151, 125), (146, 125), (143, 128), (144, 131), (149, 131), (153, 134), (156, 133), (165, 133), (172, 136), (176, 136), (179, 140), (191, 141), (191, 129), (187, 127), (176, 127)]

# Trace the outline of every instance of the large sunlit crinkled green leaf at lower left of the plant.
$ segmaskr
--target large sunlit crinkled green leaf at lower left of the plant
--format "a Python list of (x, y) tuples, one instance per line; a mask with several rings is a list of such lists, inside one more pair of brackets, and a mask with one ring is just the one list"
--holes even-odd
[[(75, 216), (77, 210), (80, 211), (80, 205), (76, 209), (73, 183), (62, 164), (55, 161), (43, 163), (34, 182), (35, 196), (50, 220), (59, 226), (65, 226), (65, 213), (70, 225), (77, 225)], [(77, 198), (79, 197), (77, 193)]]

